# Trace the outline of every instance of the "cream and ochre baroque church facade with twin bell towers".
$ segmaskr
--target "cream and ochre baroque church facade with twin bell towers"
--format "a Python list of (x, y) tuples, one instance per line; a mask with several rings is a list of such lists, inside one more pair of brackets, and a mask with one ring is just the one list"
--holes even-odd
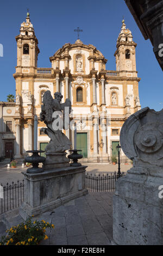
[[(40, 112), (47, 90), (52, 96), (60, 92), (62, 102), (71, 100), (70, 120), (76, 122), (77, 149), (83, 151), (85, 161), (108, 162), (117, 156), (123, 123), (141, 108), (136, 43), (124, 20), (114, 54), (116, 71), (106, 70), (107, 59), (103, 54), (79, 39), (74, 44), (65, 44), (49, 58), (52, 68), (37, 68), (40, 51), (29, 13), (16, 42), (16, 102), (0, 102), (1, 156), (9, 157), (12, 151), (15, 159), (21, 159), (27, 150), (33, 150), (35, 129), (36, 147), (45, 149), (49, 138), (41, 131), (45, 124), (40, 121)], [(103, 117), (101, 125), (100, 117)], [(73, 148), (74, 131), (64, 132)], [(121, 158), (125, 159), (123, 152)]]

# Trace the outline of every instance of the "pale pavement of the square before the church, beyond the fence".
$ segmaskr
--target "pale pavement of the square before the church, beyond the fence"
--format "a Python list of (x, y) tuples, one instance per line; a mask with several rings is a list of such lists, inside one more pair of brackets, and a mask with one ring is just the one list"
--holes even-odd
[[(108, 173), (118, 171), (118, 164), (115, 166), (110, 163), (82, 163), (87, 166), (86, 172), (95, 173)], [(121, 171), (127, 172), (131, 168), (131, 164), (125, 165), (121, 164)], [(11, 184), (12, 181), (16, 182), (17, 180), (23, 179), (23, 174), (21, 172), (25, 172), (27, 167), (22, 168), (21, 164), (18, 164), (16, 168), (7, 168), (7, 164), (0, 163), (0, 185), (2, 184)]]

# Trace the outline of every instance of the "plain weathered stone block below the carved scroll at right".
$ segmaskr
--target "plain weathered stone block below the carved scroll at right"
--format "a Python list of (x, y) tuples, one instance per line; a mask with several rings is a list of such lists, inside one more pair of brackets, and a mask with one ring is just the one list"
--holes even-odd
[(131, 168), (116, 181), (113, 238), (118, 245), (163, 245), (163, 204), (158, 189), (163, 173)]

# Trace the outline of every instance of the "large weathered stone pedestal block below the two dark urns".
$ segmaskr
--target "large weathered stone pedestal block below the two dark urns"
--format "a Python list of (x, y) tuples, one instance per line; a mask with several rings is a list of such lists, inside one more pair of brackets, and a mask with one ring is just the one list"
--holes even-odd
[(51, 211), (88, 193), (85, 189), (86, 166), (45, 170), (43, 173), (22, 172), (26, 195), (20, 208), (24, 220)]

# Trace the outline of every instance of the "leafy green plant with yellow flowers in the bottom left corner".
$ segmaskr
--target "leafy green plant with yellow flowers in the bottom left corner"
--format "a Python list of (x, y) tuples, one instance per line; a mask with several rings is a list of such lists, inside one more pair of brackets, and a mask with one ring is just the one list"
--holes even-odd
[(41, 240), (48, 239), (46, 228), (54, 228), (54, 225), (44, 220), (32, 222), (32, 217), (8, 229), (1, 237), (0, 245), (38, 245)]

